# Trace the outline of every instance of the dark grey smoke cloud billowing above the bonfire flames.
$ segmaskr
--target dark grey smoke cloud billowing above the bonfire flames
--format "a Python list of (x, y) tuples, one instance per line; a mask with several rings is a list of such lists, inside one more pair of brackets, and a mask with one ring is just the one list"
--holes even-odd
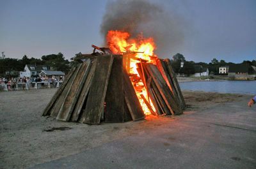
[[(145, 0), (109, 1), (103, 17), (100, 32), (105, 37), (109, 30), (138, 33), (153, 37), (159, 57), (169, 57), (173, 50), (179, 50), (184, 41), (184, 18), (172, 10)], [(179, 52), (179, 51), (177, 51)]]

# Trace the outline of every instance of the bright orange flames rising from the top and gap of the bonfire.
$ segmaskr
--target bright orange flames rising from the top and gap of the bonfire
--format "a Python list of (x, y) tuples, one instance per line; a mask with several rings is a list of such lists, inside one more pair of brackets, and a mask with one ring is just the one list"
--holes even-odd
[[(156, 55), (154, 55), (154, 49), (156, 49), (156, 45), (153, 38), (144, 38), (143, 34), (139, 34), (138, 38), (130, 38), (130, 34), (124, 31), (108, 31), (106, 40), (108, 42), (108, 47), (114, 54), (125, 54), (126, 52), (134, 52), (134, 57), (138, 59), (131, 59), (129, 65), (130, 69), (127, 70), (128, 73), (136, 74), (138, 77), (140, 77), (136, 69), (136, 63), (140, 62), (140, 59), (155, 63), (154, 59), (152, 59), (154, 57), (156, 58)], [(147, 96), (147, 90), (145, 89), (142, 81), (138, 82), (136, 86), (141, 86), (140, 90), (136, 89), (135, 86), (134, 89), (140, 100), (140, 104), (143, 108), (144, 113), (146, 115), (149, 115), (150, 110), (148, 110), (148, 107), (144, 103), (140, 94), (143, 94), (145, 98), (148, 98), (148, 102), (150, 103), (152, 109), (156, 112), (152, 101), (150, 101), (149, 97)]]

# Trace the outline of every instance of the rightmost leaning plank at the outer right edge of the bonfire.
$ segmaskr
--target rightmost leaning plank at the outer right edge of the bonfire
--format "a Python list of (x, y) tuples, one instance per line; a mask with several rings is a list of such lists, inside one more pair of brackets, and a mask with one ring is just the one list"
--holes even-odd
[(170, 61), (170, 59), (164, 59), (164, 63), (168, 70), (168, 74), (170, 75), (170, 78), (172, 78), (172, 80), (173, 80), (173, 85), (175, 87), (175, 91), (177, 92), (177, 95), (178, 95), (180, 101), (182, 102), (182, 108), (184, 109), (186, 107), (186, 103), (185, 103), (184, 97), (182, 95), (182, 92), (180, 90), (179, 82), (175, 76), (173, 69), (172, 69), (171, 61)]

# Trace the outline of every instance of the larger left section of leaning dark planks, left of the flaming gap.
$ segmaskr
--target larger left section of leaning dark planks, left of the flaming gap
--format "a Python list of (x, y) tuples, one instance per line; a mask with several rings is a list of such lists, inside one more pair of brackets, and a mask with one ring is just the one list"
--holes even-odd
[(144, 119), (122, 55), (93, 55), (70, 70), (43, 115), (100, 124)]

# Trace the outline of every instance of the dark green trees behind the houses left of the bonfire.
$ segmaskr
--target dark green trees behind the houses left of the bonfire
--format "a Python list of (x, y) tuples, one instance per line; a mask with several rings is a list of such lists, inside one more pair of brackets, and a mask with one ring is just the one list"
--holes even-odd
[(4, 77), (6, 71), (23, 71), (26, 64), (46, 65), (51, 70), (63, 71), (65, 73), (70, 70), (70, 62), (59, 52), (58, 54), (43, 55), (41, 59), (29, 58), (27, 55), (24, 55), (22, 59), (0, 59), (0, 75)]

